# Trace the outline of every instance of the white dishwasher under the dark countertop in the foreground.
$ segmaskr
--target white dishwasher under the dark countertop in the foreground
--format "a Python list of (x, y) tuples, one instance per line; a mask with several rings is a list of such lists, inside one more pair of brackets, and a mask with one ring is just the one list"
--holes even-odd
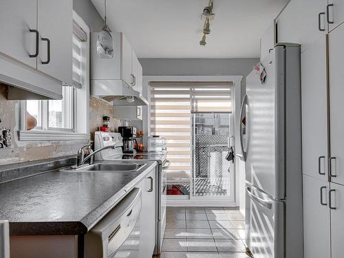
[(85, 235), (85, 258), (142, 258), (141, 190), (133, 189)]

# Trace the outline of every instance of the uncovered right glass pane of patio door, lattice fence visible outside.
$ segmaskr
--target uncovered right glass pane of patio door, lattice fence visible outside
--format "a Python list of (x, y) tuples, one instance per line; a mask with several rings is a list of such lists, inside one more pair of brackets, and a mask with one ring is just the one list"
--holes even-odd
[(233, 193), (233, 162), (230, 151), (230, 113), (194, 112), (193, 197), (230, 197)]

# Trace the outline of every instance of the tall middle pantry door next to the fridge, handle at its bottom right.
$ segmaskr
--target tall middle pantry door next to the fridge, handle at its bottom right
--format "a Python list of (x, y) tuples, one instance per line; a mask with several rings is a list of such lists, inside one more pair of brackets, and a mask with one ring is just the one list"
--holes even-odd
[(302, 173), (327, 180), (325, 36), (301, 54)]

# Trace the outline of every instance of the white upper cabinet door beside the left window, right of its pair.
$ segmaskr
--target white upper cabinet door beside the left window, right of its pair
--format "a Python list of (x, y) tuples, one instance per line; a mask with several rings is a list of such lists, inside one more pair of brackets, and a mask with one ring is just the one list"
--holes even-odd
[(73, 1), (38, 0), (38, 3), (41, 39), (37, 69), (72, 85)]

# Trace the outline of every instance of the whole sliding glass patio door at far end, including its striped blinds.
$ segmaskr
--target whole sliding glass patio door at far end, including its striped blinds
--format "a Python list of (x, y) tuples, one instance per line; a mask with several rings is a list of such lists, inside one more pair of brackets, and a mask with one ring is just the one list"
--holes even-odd
[(170, 197), (234, 200), (234, 166), (226, 160), (232, 85), (150, 83), (150, 135), (166, 138)]

